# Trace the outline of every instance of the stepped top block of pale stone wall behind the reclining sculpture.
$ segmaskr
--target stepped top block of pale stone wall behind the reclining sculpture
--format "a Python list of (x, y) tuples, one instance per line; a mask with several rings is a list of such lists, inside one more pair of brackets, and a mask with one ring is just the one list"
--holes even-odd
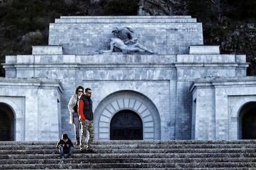
[(92, 55), (109, 49), (115, 26), (132, 28), (140, 44), (160, 55), (188, 54), (190, 45), (203, 45), (202, 23), (190, 16), (63, 16), (49, 25), (49, 46)]

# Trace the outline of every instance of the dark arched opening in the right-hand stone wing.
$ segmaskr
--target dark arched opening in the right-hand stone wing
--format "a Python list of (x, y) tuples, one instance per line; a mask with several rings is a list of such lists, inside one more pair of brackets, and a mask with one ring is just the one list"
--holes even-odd
[(242, 139), (256, 139), (256, 102), (249, 102), (241, 109)]

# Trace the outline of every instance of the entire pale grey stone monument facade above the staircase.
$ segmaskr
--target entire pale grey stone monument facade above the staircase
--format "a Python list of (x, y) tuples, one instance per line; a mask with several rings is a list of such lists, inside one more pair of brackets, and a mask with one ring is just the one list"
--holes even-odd
[[(153, 52), (109, 52), (116, 26)], [(93, 91), (95, 140), (242, 139), (256, 103), (248, 64), (205, 46), (190, 16), (63, 16), (47, 46), (6, 56), (0, 102), (13, 140), (75, 139), (67, 103), (79, 85)]]

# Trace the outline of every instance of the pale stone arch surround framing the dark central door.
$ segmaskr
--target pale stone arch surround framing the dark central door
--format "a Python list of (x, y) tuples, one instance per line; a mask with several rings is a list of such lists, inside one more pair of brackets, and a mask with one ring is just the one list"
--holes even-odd
[(119, 111), (134, 111), (142, 121), (143, 140), (160, 140), (160, 115), (155, 104), (135, 91), (117, 91), (103, 99), (94, 113), (95, 140), (110, 140), (111, 121)]

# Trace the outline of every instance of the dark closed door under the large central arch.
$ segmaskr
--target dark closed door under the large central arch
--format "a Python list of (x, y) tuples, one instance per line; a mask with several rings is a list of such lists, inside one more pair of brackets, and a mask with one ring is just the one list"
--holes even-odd
[(121, 110), (111, 119), (111, 140), (142, 140), (142, 119), (134, 111)]

